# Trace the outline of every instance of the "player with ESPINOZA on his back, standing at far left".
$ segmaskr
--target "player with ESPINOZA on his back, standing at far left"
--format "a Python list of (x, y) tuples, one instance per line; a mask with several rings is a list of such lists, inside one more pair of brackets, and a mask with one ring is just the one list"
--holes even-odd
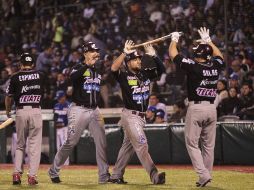
[(10, 117), (12, 101), (16, 105), (17, 148), (13, 185), (21, 184), (23, 158), (28, 140), (29, 171), (28, 184), (36, 185), (37, 171), (41, 158), (42, 115), (41, 100), (43, 95), (44, 76), (33, 70), (34, 60), (29, 53), (21, 55), (21, 70), (11, 76), (6, 89), (6, 114)]

